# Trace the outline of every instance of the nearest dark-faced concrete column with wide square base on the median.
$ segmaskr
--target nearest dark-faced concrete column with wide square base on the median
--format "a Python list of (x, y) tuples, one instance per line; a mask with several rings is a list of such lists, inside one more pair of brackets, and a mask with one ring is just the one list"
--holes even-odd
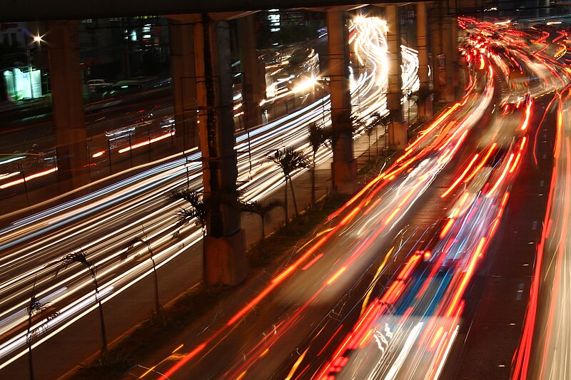
[(208, 15), (194, 27), (196, 93), (203, 157), (204, 200), (208, 205), (204, 240), (206, 284), (238, 284), (246, 278), (246, 240), (236, 192), (230, 28)]

